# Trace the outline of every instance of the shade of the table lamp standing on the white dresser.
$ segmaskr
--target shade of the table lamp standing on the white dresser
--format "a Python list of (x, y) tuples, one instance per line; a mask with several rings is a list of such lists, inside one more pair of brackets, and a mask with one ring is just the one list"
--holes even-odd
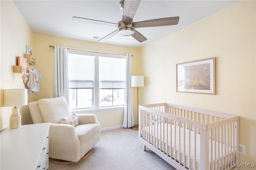
[(28, 89), (5, 89), (4, 106), (24, 106), (28, 104)]

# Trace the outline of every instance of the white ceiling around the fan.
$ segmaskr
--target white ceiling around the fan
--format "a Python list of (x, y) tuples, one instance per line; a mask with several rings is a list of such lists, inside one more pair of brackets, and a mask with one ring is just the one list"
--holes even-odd
[[(72, 20), (72, 16), (118, 23), (123, 11), (120, 0), (14, 0), (34, 33), (94, 41), (117, 28)], [(142, 0), (134, 22), (179, 16), (178, 25), (137, 28), (148, 40), (139, 43), (132, 36), (115, 35), (104, 43), (142, 47), (202, 18), (231, 6), (239, 0)]]

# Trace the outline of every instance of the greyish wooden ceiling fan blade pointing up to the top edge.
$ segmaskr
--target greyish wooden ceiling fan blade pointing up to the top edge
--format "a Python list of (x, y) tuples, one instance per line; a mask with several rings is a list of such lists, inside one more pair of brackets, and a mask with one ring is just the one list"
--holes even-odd
[(132, 23), (133, 17), (140, 5), (140, 0), (124, 0), (124, 12), (122, 21)]

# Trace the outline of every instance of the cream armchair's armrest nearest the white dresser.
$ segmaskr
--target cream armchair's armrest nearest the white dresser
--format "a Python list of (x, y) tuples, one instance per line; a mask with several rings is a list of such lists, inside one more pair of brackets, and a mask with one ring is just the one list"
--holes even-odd
[[(49, 157), (77, 162), (81, 144), (73, 125), (51, 123), (49, 130)], [(74, 152), (77, 150), (77, 152)]]

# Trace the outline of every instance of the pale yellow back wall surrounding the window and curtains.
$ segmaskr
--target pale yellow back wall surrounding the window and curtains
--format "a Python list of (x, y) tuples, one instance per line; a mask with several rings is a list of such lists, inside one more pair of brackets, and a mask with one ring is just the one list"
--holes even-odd
[[(64, 47), (70, 47), (75, 49), (86, 49), (91, 51), (102, 51), (109, 53), (131, 53), (132, 57), (132, 75), (138, 75), (141, 73), (141, 67), (139, 66), (140, 58), (137, 48), (123, 47), (117, 45), (108, 45), (103, 43), (94, 43), (88, 41), (81, 41), (75, 39), (69, 39), (64, 37), (55, 37), (51, 35), (34, 34), (34, 48), (33, 57), (36, 58), (36, 65), (34, 66), (42, 75), (40, 78), (40, 92), (33, 94), (33, 100), (37, 101), (41, 98), (52, 97), (53, 87), (53, 70), (54, 70), (54, 49), (49, 45), (60, 45)], [(134, 97), (134, 105), (136, 104), (136, 89), (132, 89), (132, 95)], [(114, 127), (122, 125), (124, 109), (113, 111), (98, 111), (93, 112), (96, 114), (97, 119), (102, 128)], [(135, 122), (137, 122), (137, 107), (134, 107)]]

